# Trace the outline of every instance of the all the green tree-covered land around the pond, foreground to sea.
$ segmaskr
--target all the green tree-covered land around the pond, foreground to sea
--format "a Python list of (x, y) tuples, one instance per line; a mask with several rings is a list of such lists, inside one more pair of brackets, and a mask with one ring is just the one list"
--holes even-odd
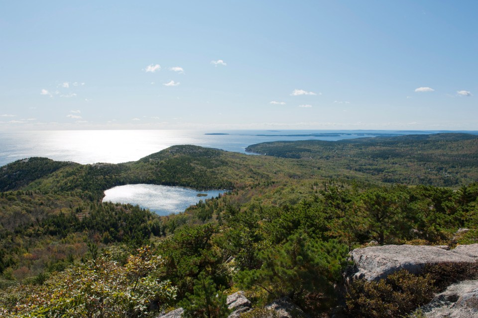
[[(183, 145), (120, 164), (0, 167), (0, 316), (219, 318), (241, 290), (252, 309), (237, 317), (279, 317), (264, 306), (285, 298), (294, 317), (420, 317), (435, 292), (478, 278), (477, 264), (344, 274), (359, 247), (478, 242), (478, 136), (246, 150), (264, 156)], [(101, 202), (136, 183), (231, 192), (169, 216)]]

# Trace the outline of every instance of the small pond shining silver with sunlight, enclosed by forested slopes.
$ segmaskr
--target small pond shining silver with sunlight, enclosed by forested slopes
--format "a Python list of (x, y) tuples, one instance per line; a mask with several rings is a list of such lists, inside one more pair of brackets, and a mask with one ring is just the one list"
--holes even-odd
[(216, 197), (225, 192), (228, 190), (200, 191), (179, 186), (128, 184), (106, 190), (103, 202), (129, 203), (159, 215), (169, 215), (184, 212), (187, 207), (200, 200)]

